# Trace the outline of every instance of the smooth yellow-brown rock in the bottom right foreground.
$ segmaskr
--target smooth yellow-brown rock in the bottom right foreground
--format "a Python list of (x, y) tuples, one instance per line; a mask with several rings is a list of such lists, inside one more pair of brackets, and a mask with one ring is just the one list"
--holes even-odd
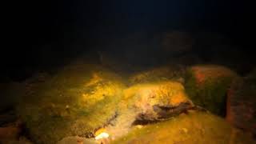
[(165, 122), (134, 126), (128, 134), (112, 143), (247, 144), (255, 141), (230, 126), (224, 119), (193, 110)]

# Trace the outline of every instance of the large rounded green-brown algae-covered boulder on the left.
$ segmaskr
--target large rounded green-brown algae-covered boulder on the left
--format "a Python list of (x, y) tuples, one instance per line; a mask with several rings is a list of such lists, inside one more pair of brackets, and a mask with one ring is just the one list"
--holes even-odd
[(26, 81), (17, 112), (36, 143), (92, 137), (114, 118), (124, 87), (121, 81), (102, 66), (70, 64), (43, 81)]

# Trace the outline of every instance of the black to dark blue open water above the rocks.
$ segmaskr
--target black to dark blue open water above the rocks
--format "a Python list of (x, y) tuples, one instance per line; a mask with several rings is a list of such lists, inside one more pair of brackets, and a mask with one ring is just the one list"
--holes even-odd
[[(5, 8), (2, 79), (22, 80), (84, 54), (98, 57), (97, 51), (117, 58), (134, 54), (130, 60), (143, 63), (148, 58), (138, 50), (149, 50), (154, 37), (171, 30), (220, 34), (229, 43), (226, 51), (232, 48), (241, 52), (237, 59), (245, 66), (242, 69), (254, 67), (254, 9), (245, 1), (41, 0), (10, 2)], [(207, 46), (200, 46), (194, 53), (202, 57), (206, 53), (207, 59)]]

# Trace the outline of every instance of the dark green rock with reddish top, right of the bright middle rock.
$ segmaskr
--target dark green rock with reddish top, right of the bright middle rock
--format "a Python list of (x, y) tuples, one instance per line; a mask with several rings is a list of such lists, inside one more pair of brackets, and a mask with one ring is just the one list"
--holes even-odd
[(237, 77), (224, 66), (192, 66), (186, 74), (186, 92), (195, 105), (225, 116), (226, 92)]

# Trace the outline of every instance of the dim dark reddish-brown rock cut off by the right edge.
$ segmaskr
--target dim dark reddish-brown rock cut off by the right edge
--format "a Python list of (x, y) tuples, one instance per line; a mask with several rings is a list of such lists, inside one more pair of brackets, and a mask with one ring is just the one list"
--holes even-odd
[(256, 136), (256, 70), (246, 78), (237, 78), (231, 85), (226, 119), (234, 126)]

